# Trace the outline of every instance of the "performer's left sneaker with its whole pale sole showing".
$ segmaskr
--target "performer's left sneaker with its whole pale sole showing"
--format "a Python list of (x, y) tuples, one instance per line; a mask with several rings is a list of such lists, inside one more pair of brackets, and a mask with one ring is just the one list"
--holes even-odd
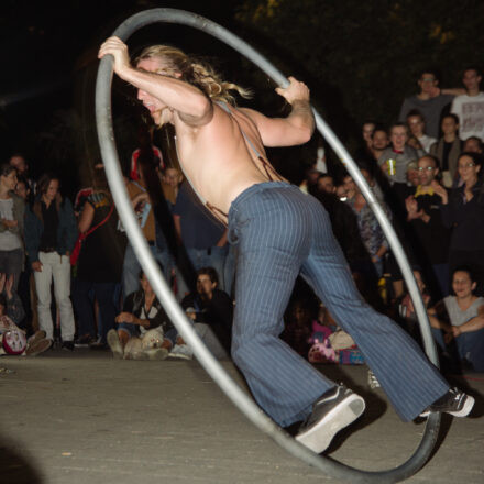
[(312, 405), (312, 413), (301, 425), (296, 440), (321, 453), (332, 438), (356, 420), (365, 409), (365, 400), (344, 385), (336, 386)]

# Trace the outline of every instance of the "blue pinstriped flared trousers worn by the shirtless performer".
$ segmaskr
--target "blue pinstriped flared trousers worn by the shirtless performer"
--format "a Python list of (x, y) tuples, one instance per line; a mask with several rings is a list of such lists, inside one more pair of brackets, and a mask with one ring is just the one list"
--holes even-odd
[(403, 420), (448, 392), (414, 340), (362, 299), (314, 197), (283, 182), (253, 185), (230, 207), (229, 241), (238, 244), (232, 359), (279, 426), (304, 419), (334, 386), (278, 338), (299, 274), (351, 334)]

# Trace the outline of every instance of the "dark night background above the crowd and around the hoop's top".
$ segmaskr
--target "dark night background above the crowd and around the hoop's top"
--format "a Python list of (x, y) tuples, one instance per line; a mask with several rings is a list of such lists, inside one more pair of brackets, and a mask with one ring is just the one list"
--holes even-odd
[[(1, 161), (21, 151), (33, 175), (56, 170), (65, 190), (73, 193), (81, 183), (79, 173), (99, 160), (97, 50), (128, 16), (157, 7), (205, 15), (252, 44), (286, 75), (304, 79), (314, 105), (351, 150), (365, 119), (386, 124), (396, 119), (403, 98), (417, 91), (421, 69), (437, 68), (442, 86), (460, 87), (462, 69), (479, 65), (484, 52), (482, 1), (3, 0)], [(130, 51), (151, 43), (206, 56), (227, 79), (254, 89), (252, 107), (272, 116), (286, 112), (266, 76), (221, 42), (194, 29), (156, 24), (134, 34)], [(134, 90), (120, 81), (113, 84), (113, 106), (117, 143), (127, 165), (143, 112)], [(318, 138), (302, 148), (273, 150), (270, 156), (298, 182), (315, 158)]]

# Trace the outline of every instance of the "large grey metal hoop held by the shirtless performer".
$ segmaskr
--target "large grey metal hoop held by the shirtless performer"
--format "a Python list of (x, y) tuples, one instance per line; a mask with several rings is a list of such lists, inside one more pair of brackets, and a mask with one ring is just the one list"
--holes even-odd
[[(176, 9), (153, 9), (146, 10), (125, 20), (114, 32), (113, 35), (127, 41), (139, 29), (156, 22), (175, 23), (182, 25), (193, 26), (200, 31), (212, 35), (216, 38), (224, 42), (233, 47), (235, 51), (252, 61), (260, 67), (267, 76), (270, 76), (276, 84), (286, 86), (288, 80), (283, 76), (267, 59), (254, 51), (249, 44), (232, 34), (228, 30), (218, 25), (217, 23), (197, 15), (191, 12), (186, 12)], [(112, 84), (112, 56), (102, 58), (96, 85), (96, 119), (98, 125), (99, 144), (105, 162), (106, 172), (109, 179), (109, 185), (118, 208), (121, 221), (123, 222), (131, 244), (134, 248), (136, 256), (147, 275), (156, 296), (163, 302), (165, 310), (183, 338), (194, 350), (195, 355), (200, 364), (210, 374), (215, 382), (226, 393), (242, 414), (244, 414), (260, 430), (275, 440), (282, 448), (287, 450), (294, 457), (301, 459), (310, 465), (322, 471), (332, 477), (351, 482), (351, 483), (391, 483), (399, 482), (414, 475), (429, 459), (432, 453), (435, 442), (438, 437), (440, 425), (440, 415), (431, 414), (426, 424), (425, 432), (419, 447), (415, 453), (402, 465), (388, 471), (367, 472), (350, 468), (331, 459), (320, 457), (301, 446), (299, 442), (289, 437), (283, 431), (273, 420), (271, 420), (254, 402), (232, 381), (228, 373), (222, 369), (218, 361), (208, 351), (207, 346), (201, 342), (191, 324), (187, 320), (185, 314), (176, 301), (172, 290), (166, 284), (157, 264), (155, 263), (150, 248), (141, 232), (138, 221), (131, 208), (128, 193), (122, 178), (122, 173), (119, 164), (118, 152), (114, 143), (114, 133), (112, 129), (111, 116), (111, 84)], [(405, 282), (414, 300), (420, 329), (424, 337), (426, 352), (429, 359), (437, 365), (438, 359), (435, 344), (430, 333), (430, 327), (427, 319), (424, 302), (420, 297), (417, 284), (415, 282), (413, 272), (409, 267), (407, 257), (404, 253), (398, 238), (385, 216), (384, 210), (380, 206), (377, 199), (374, 197), (364, 177), (362, 176), (356, 164), (337, 139), (334, 133), (322, 120), (319, 113), (314, 109), (316, 117), (316, 124), (319, 132), (326, 138), (328, 143), (341, 158), (346, 166), (349, 173), (356, 182), (362, 190), (369, 206), (378, 219), (380, 224), (394, 251), (398, 261)]]

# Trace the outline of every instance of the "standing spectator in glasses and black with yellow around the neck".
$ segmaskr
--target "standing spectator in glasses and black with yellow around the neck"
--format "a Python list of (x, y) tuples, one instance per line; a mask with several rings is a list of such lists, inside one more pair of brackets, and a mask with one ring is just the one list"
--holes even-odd
[(418, 161), (418, 169), (420, 185), (405, 200), (407, 220), (414, 235), (413, 252), (433, 300), (439, 300), (449, 294), (448, 257), (451, 231), (442, 222), (440, 197), (435, 189), (438, 185), (438, 160), (431, 155), (422, 156)]

